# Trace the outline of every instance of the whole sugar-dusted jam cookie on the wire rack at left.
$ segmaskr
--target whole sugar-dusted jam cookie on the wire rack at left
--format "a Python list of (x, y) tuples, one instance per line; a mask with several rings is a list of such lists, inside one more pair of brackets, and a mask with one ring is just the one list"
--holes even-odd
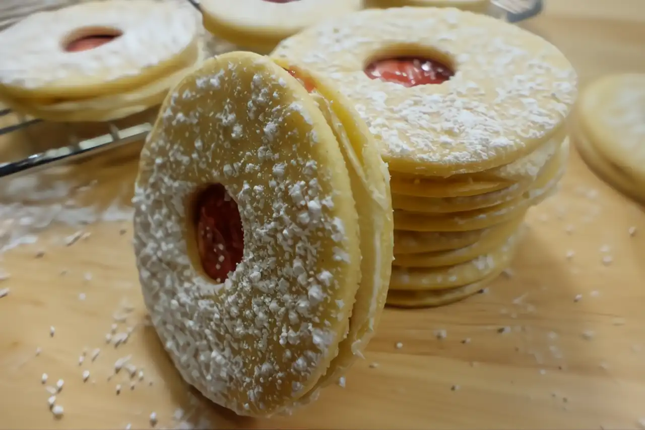
[(43, 105), (126, 92), (190, 67), (198, 51), (194, 15), (168, 2), (39, 12), (0, 32), (0, 96)]

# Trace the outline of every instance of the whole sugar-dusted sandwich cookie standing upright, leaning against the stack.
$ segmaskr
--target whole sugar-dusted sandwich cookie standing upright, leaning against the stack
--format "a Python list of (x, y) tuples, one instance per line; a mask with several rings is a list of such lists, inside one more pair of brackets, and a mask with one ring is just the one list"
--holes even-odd
[(144, 302), (184, 380), (239, 415), (315, 398), (378, 323), (392, 206), (355, 118), (297, 65), (232, 52), (182, 79), (142, 150)]

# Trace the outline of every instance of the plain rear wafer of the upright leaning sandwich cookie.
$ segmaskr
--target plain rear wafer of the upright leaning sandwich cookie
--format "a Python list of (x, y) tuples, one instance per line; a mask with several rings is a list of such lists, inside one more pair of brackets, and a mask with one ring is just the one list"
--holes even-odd
[[(314, 400), (317, 391), (336, 382), (357, 358), (363, 358), (385, 306), (393, 260), (393, 216), (390, 174), (375, 146), (370, 130), (356, 121), (349, 102), (323, 80), (284, 60), (276, 63), (301, 80), (332, 127), (350, 174), (359, 216), (361, 285), (350, 317), (350, 329), (328, 371), (297, 405)], [(374, 274), (374, 275), (371, 275)]]

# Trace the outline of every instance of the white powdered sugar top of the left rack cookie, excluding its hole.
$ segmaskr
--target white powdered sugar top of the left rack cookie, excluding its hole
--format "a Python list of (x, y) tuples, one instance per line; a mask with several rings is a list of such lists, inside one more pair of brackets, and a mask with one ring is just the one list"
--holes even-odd
[[(83, 52), (61, 48), (70, 32), (87, 27), (113, 28), (123, 35)], [(44, 33), (48, 37), (41, 37)], [(82, 77), (107, 82), (137, 76), (188, 48), (196, 34), (193, 12), (170, 2), (115, 0), (38, 12), (0, 33), (0, 83), (39, 88), (78, 85)]]

